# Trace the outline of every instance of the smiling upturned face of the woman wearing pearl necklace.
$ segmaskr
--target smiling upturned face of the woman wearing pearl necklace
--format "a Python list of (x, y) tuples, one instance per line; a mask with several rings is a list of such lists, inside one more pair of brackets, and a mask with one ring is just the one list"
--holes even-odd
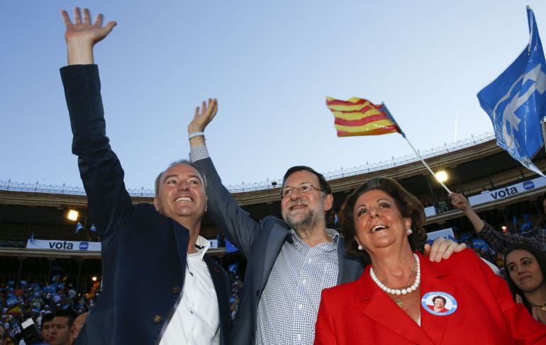
[(389, 194), (379, 189), (363, 193), (353, 209), (355, 239), (369, 254), (375, 249), (408, 244), (411, 219), (403, 217)]

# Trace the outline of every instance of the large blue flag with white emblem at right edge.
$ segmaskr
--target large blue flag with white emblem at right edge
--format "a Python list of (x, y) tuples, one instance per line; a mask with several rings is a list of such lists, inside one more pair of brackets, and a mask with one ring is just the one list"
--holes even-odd
[(545, 176), (531, 159), (544, 145), (540, 119), (546, 115), (546, 60), (535, 14), (529, 7), (527, 17), (529, 44), (497, 79), (479, 91), (478, 99), (491, 118), (497, 145), (527, 169)]

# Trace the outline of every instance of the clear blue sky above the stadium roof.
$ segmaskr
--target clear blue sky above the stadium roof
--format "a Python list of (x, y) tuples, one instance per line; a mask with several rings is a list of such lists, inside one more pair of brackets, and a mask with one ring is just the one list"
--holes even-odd
[(528, 43), (525, 5), (546, 40), (546, 2), (4, 1), (0, 181), (81, 186), (59, 68), (61, 9), (118, 26), (96, 45), (107, 134), (129, 188), (152, 188), (187, 157), (194, 107), (227, 185), (328, 173), (411, 154), (400, 135), (335, 136), (325, 97), (386, 103), (420, 150), (492, 130), (477, 92)]

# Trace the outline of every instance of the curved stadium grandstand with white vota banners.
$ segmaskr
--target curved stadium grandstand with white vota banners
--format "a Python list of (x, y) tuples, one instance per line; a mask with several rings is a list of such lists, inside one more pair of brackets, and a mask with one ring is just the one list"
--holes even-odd
[[(467, 196), (479, 216), (496, 230), (520, 232), (545, 223), (542, 195), (546, 179), (520, 166), (496, 145), (493, 135), (472, 137), (421, 154), (434, 171), (445, 171), (447, 187)], [(545, 171), (543, 150), (533, 163)], [(332, 186), (336, 213), (346, 196), (364, 181), (374, 176), (389, 176), (423, 203), (427, 232), (452, 230), (457, 239), (471, 245), (477, 238), (472, 224), (461, 211), (452, 208), (446, 191), (417, 157), (393, 158), (325, 175)], [(281, 181), (267, 181), (228, 189), (255, 219), (267, 215), (281, 217), (280, 184)], [(133, 203), (152, 203), (152, 191), (130, 193)], [(72, 220), (67, 218), (70, 210), (78, 212)], [(331, 227), (337, 227), (334, 219), (330, 222)], [(222, 232), (205, 217), (201, 235), (211, 240), (210, 253), (226, 271), (233, 273), (236, 293), (240, 290), (239, 276), (244, 272), (245, 261), (237, 251), (226, 250)], [(61, 287), (65, 293), (73, 290), (86, 297), (73, 298), (72, 303), (80, 312), (87, 311), (89, 301), (92, 305), (94, 298), (90, 294), (100, 292), (99, 245), (82, 189), (0, 182), (0, 304), (4, 303), (1, 307), (9, 307), (5, 298), (1, 299), (1, 291), (6, 288), (23, 290), (31, 284), (44, 287), (60, 283), (57, 289)], [(244, 283), (244, 277), (240, 278)], [(42, 311), (44, 304), (33, 310)]]

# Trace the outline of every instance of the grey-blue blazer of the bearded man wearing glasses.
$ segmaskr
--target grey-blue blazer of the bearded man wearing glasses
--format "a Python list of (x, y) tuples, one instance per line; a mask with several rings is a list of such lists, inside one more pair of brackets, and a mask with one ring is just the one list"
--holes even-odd
[[(210, 158), (194, 164), (206, 176), (208, 216), (248, 261), (243, 297), (232, 324), (230, 341), (238, 345), (254, 344), (258, 302), (290, 229), (274, 216), (264, 217), (260, 222), (252, 220), (225, 189)], [(360, 260), (347, 256), (342, 239), (338, 242), (338, 257), (338, 284), (360, 277), (364, 266)]]

